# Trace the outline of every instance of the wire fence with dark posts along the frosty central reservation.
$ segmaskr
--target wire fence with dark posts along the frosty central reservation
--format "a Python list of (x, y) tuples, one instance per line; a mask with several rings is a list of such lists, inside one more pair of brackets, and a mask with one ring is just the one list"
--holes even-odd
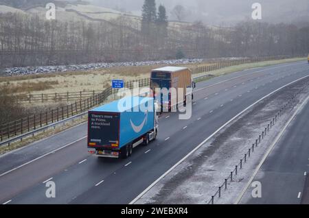
[[(207, 204), (215, 204), (215, 198), (220, 199), (222, 197), (222, 193), (228, 189), (228, 186), (231, 182), (233, 182), (233, 178), (235, 178), (239, 171), (243, 168), (243, 166), (247, 163), (249, 158), (254, 154), (255, 149), (258, 149), (258, 145), (262, 143), (264, 138), (268, 136), (269, 132), (273, 128), (273, 126), (277, 123), (278, 119), (282, 117), (282, 113), (288, 108), (288, 106), (293, 106), (293, 101), (299, 96), (301, 93), (308, 93), (309, 83), (305, 84), (302, 88), (293, 94), (292, 97), (282, 106), (282, 108), (276, 112), (275, 116), (271, 121), (266, 125), (265, 129), (261, 132), (257, 139), (255, 139), (255, 143), (253, 143), (244, 154), (243, 158), (240, 159), (240, 162), (233, 168), (233, 171), (229, 173), (229, 176), (225, 178), (224, 182), (220, 186), (218, 186), (216, 193), (211, 195), (211, 198), (206, 202)], [(230, 183), (229, 183), (230, 182)]]

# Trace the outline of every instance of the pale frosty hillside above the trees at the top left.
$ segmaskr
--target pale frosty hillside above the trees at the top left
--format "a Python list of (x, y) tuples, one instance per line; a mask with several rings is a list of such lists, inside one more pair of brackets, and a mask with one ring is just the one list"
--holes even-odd
[[(62, 21), (106, 21), (113, 22), (120, 17), (130, 21), (130, 26), (139, 29), (141, 17), (131, 13), (123, 13), (111, 8), (91, 5), (84, 1), (51, 1), (51, 0), (0, 0), (0, 13), (21, 12), (38, 15), (45, 19), (45, 4), (53, 2), (56, 5), (56, 19)], [(179, 29), (185, 22), (170, 21), (170, 29)]]

